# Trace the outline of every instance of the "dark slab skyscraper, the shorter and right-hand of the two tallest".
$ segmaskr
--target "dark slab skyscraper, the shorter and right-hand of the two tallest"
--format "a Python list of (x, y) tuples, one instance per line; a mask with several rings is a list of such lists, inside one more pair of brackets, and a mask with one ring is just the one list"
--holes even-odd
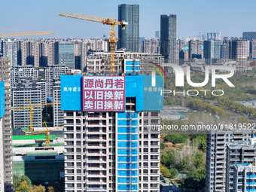
[(176, 15), (161, 15), (160, 22), (160, 53), (169, 62), (176, 63)]

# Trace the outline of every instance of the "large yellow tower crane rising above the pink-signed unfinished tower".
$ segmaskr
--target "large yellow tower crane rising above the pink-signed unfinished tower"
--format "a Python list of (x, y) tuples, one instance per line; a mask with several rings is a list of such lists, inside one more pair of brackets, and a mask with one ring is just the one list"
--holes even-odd
[(122, 26), (122, 29), (125, 28), (125, 26), (128, 25), (127, 22), (124, 20), (118, 21), (117, 19), (111, 19), (107, 17), (98, 17), (98, 16), (93, 16), (89, 14), (79, 14), (79, 13), (64, 13), (64, 12), (59, 12), (59, 16), (64, 16), (64, 17), (71, 17), (75, 18), (78, 20), (89, 20), (93, 22), (98, 22), (98, 23), (103, 23), (105, 25), (110, 25), (110, 38), (109, 38), (109, 44), (110, 44), (110, 72), (114, 72), (114, 48), (115, 48), (115, 43), (116, 43), (116, 38), (115, 38), (115, 31), (114, 31), (114, 26), (119, 25)]

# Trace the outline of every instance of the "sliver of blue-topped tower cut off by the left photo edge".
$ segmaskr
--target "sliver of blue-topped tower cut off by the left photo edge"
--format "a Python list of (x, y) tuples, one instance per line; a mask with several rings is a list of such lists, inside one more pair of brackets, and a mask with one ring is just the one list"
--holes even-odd
[(4, 159), (4, 141), (3, 116), (5, 115), (5, 82), (0, 81), (0, 191), (5, 190), (5, 159)]

